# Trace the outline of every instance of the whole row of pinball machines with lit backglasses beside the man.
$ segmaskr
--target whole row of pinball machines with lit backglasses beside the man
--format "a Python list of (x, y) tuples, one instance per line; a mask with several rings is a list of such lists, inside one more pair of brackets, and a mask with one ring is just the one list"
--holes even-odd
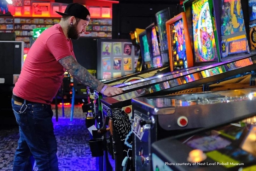
[(100, 170), (256, 170), (256, 3), (186, 0), (131, 32), (134, 74), (88, 88)]

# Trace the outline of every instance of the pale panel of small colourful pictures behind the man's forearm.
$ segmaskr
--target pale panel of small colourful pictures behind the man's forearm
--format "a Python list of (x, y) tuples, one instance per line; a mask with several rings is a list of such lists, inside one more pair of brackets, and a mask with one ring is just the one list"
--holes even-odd
[(99, 64), (97, 79), (117, 78), (134, 73), (139, 53), (131, 40), (126, 39), (98, 39), (97, 49)]

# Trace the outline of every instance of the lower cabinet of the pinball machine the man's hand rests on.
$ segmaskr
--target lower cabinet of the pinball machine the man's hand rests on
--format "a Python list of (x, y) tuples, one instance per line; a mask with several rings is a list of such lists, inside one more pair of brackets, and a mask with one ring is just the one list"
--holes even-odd
[[(217, 63), (200, 67), (198, 71), (175, 77), (160, 77), (146, 81), (137, 89), (124, 92), (119, 95), (101, 99), (103, 116), (109, 122), (104, 127), (111, 127), (112, 133), (105, 136), (110, 163), (114, 170), (123, 168), (122, 163), (128, 161), (129, 168), (132, 165), (132, 103), (137, 97), (168, 95), (184, 89), (200, 86), (204, 83), (218, 81), (234, 75), (243, 74), (254, 70), (255, 57), (245, 57), (235, 61)], [(189, 72), (189, 71), (188, 71)], [(151, 82), (151, 83), (150, 83)]]

